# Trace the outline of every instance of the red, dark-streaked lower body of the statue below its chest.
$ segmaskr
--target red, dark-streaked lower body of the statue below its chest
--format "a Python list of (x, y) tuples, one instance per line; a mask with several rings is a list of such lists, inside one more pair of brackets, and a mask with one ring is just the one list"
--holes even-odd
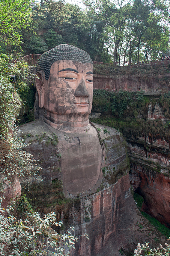
[[(87, 201), (91, 209), (87, 209)], [(89, 210), (90, 209), (90, 210)], [(90, 213), (87, 219), (86, 212)], [(139, 220), (131, 195), (129, 175), (115, 185), (88, 197), (81, 198), (69, 211), (69, 223), (74, 223), (76, 234), (88, 233), (89, 240), (80, 238), (71, 255), (118, 256), (119, 249), (134, 242), (134, 224)]]

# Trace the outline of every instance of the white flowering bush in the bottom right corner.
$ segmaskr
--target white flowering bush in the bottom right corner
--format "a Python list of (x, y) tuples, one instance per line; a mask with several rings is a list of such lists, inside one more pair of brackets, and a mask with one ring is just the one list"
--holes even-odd
[[(169, 239), (170, 240), (170, 237)], [(148, 246), (149, 243), (146, 243), (145, 245), (139, 244), (137, 246), (137, 249), (134, 251), (134, 256), (143, 256), (143, 255), (150, 255), (150, 256), (169, 256), (170, 255), (170, 245), (165, 243), (166, 248), (163, 248), (162, 245), (158, 247), (157, 249), (151, 249)]]

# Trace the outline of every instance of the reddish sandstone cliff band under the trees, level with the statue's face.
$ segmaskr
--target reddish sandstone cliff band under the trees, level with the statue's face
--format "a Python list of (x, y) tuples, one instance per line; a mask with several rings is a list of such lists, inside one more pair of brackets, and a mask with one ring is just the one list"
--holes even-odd
[[(167, 68), (165, 68), (164, 72), (161, 72), (160, 74), (159, 68), (163, 65)], [(154, 71), (152, 70), (152, 67), (155, 68)], [(140, 69), (142, 70), (141, 72)], [(100, 73), (101, 70), (102, 68), (99, 70), (97, 69), (96, 72)], [(104, 67), (103, 70), (105, 70)], [(94, 89), (105, 89), (113, 92), (116, 92), (120, 89), (132, 92), (143, 90), (145, 91), (145, 94), (152, 95), (159, 95), (162, 89), (170, 90), (170, 84), (167, 85), (166, 82), (162, 83), (164, 79), (166, 80), (170, 77), (170, 73), (166, 73), (169, 72), (169, 61), (153, 62), (142, 66), (133, 65), (124, 67), (124, 70), (120, 70), (120, 74), (118, 70), (108, 70), (109, 74), (106, 75), (105, 73), (107, 73), (107, 71), (103, 70), (103, 74), (94, 74)]]

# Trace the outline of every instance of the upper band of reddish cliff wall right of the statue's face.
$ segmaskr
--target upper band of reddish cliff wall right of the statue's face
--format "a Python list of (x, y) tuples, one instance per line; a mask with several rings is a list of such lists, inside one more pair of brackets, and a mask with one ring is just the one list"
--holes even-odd
[[(145, 91), (145, 94), (159, 95), (161, 94), (162, 89), (170, 89), (170, 84), (168, 84), (167, 86), (167, 83), (161, 83), (163, 79), (166, 80), (170, 77), (170, 73), (166, 73), (169, 72), (169, 61), (153, 62), (151, 64), (145, 64), (144, 66), (141, 66), (142, 68), (145, 67), (145, 69), (147, 70), (147, 67), (162, 65), (167, 66), (167, 70), (164, 74), (158, 74), (157, 76), (152, 73), (152, 70), (150, 71), (150, 75), (145, 75), (145, 70), (142, 70), (142, 73), (138, 72), (139, 74), (136, 74), (135, 71), (132, 72), (132, 74), (125, 75), (115, 75), (114, 71), (110, 75), (94, 74), (93, 88), (105, 89), (113, 92), (120, 90), (120, 88), (122, 90), (133, 92), (143, 90)], [(139, 65), (138, 67), (140, 69)], [(132, 69), (133, 66), (125, 67), (125, 69), (126, 68)], [(124, 72), (126, 71), (124, 70)], [(159, 72), (158, 68), (157, 72)]]

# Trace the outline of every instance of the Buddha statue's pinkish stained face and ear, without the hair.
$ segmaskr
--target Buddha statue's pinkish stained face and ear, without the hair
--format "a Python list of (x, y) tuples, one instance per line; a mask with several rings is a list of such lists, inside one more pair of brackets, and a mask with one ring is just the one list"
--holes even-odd
[[(61, 60), (52, 64), (49, 79), (37, 72), (39, 107), (47, 114), (72, 117), (88, 116), (92, 107), (93, 65)], [(72, 121), (72, 120), (69, 120)], [(79, 120), (80, 121), (80, 120)]]

